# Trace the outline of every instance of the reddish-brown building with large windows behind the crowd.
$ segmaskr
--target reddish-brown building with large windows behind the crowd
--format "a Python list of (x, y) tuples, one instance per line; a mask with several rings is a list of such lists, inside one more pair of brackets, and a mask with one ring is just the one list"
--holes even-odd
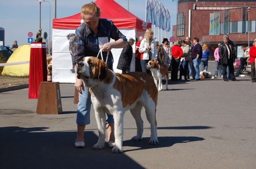
[[(199, 38), (214, 51), (228, 34), (235, 50), (252, 46), (256, 39), (255, 0), (178, 0), (177, 24), (172, 26), (178, 41)], [(249, 29), (248, 29), (249, 28)], [(238, 51), (237, 51), (238, 52)]]

